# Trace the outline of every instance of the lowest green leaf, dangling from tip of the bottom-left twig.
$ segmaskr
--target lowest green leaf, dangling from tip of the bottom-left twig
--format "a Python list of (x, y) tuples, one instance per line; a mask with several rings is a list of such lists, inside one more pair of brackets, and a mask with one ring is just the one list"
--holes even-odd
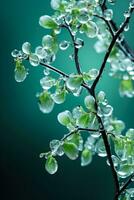
[(45, 169), (49, 174), (55, 174), (58, 170), (58, 163), (53, 156), (49, 156), (45, 163)]

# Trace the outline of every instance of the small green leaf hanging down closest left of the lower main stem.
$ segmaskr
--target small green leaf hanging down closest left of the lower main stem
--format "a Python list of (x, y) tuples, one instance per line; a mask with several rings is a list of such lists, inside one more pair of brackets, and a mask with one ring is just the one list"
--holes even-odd
[(92, 162), (92, 151), (84, 149), (81, 154), (81, 166), (87, 166)]

